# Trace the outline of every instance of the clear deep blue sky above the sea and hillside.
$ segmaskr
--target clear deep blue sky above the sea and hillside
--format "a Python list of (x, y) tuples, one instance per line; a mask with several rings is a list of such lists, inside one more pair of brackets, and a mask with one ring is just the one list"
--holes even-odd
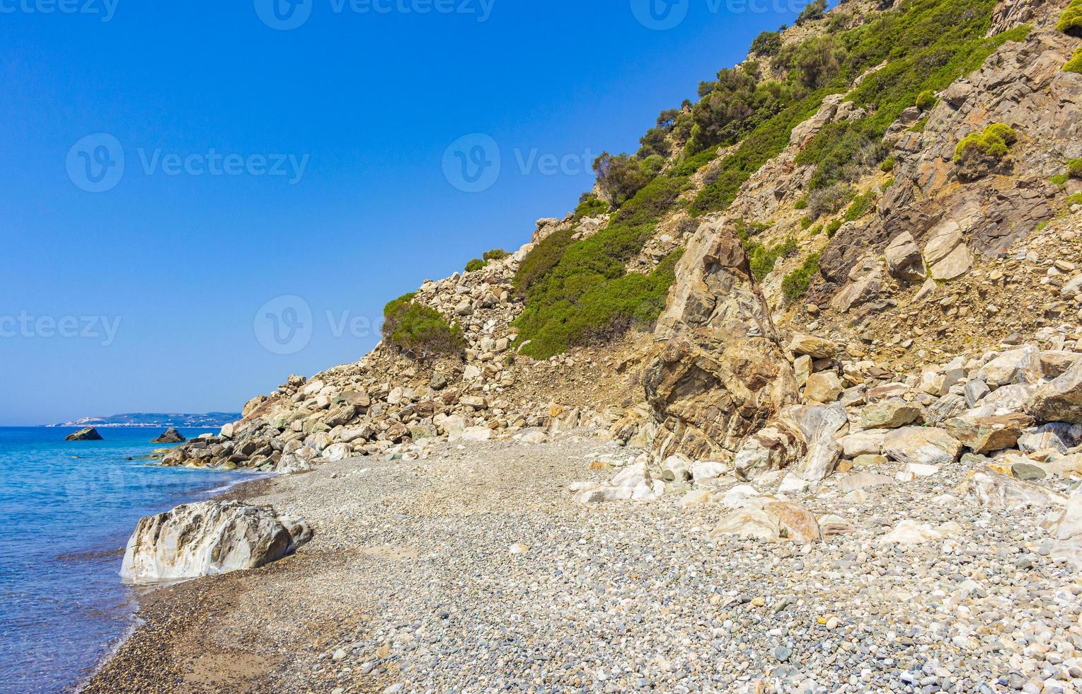
[(0, 0), (0, 425), (356, 361), (804, 4), (649, 1)]

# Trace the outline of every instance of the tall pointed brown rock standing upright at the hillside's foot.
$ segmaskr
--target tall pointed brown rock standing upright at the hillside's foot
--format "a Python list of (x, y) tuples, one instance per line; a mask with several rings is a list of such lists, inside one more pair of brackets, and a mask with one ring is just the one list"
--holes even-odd
[(664, 455), (727, 460), (796, 402), (796, 379), (748, 257), (724, 221), (702, 224), (676, 271), (658, 322), (667, 344), (644, 374)]

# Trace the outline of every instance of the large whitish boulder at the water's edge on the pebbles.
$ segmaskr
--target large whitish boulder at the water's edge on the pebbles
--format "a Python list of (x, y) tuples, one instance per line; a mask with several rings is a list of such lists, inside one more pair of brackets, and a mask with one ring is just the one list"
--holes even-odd
[(124, 551), (130, 584), (196, 578), (258, 568), (312, 539), (302, 519), (240, 501), (203, 501), (144, 518)]

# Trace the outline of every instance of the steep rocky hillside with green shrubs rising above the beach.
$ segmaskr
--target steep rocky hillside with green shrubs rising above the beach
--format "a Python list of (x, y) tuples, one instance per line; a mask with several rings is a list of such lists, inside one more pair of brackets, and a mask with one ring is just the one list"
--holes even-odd
[(576, 427), (728, 460), (805, 397), (794, 331), (842, 345), (817, 370), (848, 385), (1070, 335), (1047, 296), (1070, 263), (1032, 272), (1061, 260), (1082, 201), (1069, 13), (809, 5), (637, 153), (603, 155), (573, 212), (395, 300), (370, 355), (291, 377), (167, 462), (291, 471)]

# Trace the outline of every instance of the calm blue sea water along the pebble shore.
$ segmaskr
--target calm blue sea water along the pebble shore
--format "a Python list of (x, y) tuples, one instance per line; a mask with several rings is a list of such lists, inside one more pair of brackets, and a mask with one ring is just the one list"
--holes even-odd
[(71, 431), (0, 428), (0, 692), (81, 681), (132, 621), (119, 571), (136, 521), (250, 479), (155, 467), (161, 430), (65, 442)]

